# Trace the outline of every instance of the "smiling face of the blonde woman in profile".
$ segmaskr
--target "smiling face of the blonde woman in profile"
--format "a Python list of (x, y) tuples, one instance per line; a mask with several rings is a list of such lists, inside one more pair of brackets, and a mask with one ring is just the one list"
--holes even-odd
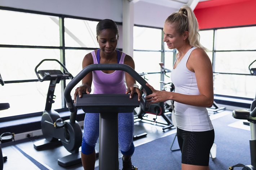
[(164, 42), (167, 43), (168, 49), (177, 49), (184, 45), (186, 36), (180, 35), (175, 28), (175, 24), (165, 23), (164, 24)]

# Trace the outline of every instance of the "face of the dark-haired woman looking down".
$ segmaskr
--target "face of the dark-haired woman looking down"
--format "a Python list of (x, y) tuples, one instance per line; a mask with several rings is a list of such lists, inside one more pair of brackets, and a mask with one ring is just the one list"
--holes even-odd
[(106, 56), (114, 54), (119, 36), (112, 29), (103, 30), (97, 36), (100, 49)]

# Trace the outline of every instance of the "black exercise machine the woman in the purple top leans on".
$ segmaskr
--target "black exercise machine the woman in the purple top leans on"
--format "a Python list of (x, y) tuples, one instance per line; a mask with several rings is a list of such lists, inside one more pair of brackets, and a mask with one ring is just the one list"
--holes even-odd
[(86, 66), (64, 90), (64, 97), (70, 112), (82, 107), (84, 112), (100, 113), (100, 148), (99, 170), (119, 170), (118, 165), (118, 113), (133, 112), (139, 105), (144, 111), (150, 108), (149, 102), (141, 98), (138, 102), (137, 93), (132, 98), (129, 94), (83, 94), (76, 98), (75, 106), (70, 95), (71, 90), (88, 73), (94, 70), (122, 70), (130, 74), (146, 91), (146, 95), (152, 93), (146, 86), (146, 81), (130, 66), (125, 64), (91, 64)]

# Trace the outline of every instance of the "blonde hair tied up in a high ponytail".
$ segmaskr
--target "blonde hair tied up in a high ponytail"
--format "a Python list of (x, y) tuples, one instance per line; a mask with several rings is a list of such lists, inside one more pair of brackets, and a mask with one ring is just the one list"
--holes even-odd
[(188, 41), (193, 47), (198, 47), (204, 51), (209, 51), (203, 47), (199, 40), (199, 28), (197, 18), (193, 10), (188, 5), (181, 6), (180, 10), (172, 13), (166, 20), (165, 23), (174, 23), (176, 31), (182, 35), (185, 31), (189, 32)]

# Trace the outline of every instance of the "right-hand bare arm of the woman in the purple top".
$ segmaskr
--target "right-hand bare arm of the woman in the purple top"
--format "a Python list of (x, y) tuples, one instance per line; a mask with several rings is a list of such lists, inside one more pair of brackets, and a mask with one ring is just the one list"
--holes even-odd
[[(131, 66), (131, 68), (135, 69), (135, 64), (131, 56), (126, 55), (124, 58), (124, 64)], [(128, 73), (125, 72), (125, 81), (127, 85), (126, 94), (130, 93), (130, 98), (132, 98), (133, 93), (138, 93), (138, 101), (141, 98), (141, 91), (138, 86), (136, 86), (135, 79)]]

